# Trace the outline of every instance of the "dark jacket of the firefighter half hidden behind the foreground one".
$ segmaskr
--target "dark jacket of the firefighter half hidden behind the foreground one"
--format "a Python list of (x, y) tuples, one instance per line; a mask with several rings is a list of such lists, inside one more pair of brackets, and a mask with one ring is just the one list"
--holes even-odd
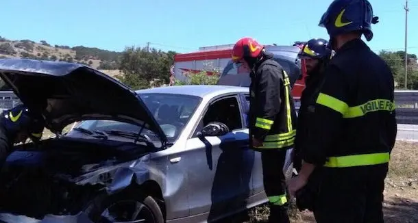
[(302, 147), (309, 146), (304, 140), (308, 137), (310, 126), (310, 114), (315, 111), (315, 99), (319, 94), (319, 88), (323, 83), (323, 68), (325, 64), (321, 62), (318, 64), (315, 70), (312, 70), (309, 75), (305, 78), (305, 89), (300, 97), (300, 107), (297, 112), (297, 133), (295, 137), (295, 149), (293, 167), (299, 172), (302, 167), (302, 158), (300, 151)]

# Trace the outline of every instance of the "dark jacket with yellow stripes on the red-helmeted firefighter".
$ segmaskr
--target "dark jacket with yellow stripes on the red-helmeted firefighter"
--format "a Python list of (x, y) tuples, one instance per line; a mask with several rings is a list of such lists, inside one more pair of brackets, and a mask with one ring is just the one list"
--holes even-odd
[[(272, 58), (265, 55), (250, 74), (249, 135), (264, 142), (254, 150), (290, 148), (295, 142), (296, 112), (290, 81)], [(250, 145), (251, 141), (252, 137)]]

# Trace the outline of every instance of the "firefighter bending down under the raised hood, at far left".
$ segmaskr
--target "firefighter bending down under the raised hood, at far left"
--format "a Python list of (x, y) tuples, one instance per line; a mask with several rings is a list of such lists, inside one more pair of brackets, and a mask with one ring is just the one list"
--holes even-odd
[(0, 167), (12, 152), (14, 143), (25, 142), (28, 137), (38, 142), (43, 130), (42, 116), (32, 114), (24, 105), (3, 111), (0, 116)]

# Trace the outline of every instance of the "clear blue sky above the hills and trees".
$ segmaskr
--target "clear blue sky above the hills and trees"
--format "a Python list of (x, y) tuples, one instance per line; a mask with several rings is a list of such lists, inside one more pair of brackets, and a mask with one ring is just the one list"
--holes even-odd
[[(252, 36), (264, 44), (328, 39), (325, 0), (2, 0), (0, 36), (112, 51), (150, 46), (180, 53)], [(371, 0), (380, 23), (369, 46), (404, 49), (404, 0)], [(408, 53), (418, 53), (418, 0), (409, 0)]]

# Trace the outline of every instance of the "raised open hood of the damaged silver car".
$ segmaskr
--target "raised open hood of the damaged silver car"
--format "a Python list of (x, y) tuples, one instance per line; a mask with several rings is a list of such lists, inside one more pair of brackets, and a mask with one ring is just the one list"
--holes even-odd
[(44, 116), (53, 132), (79, 120), (107, 119), (144, 125), (167, 142), (134, 90), (88, 66), (1, 59), (0, 76), (29, 109)]

